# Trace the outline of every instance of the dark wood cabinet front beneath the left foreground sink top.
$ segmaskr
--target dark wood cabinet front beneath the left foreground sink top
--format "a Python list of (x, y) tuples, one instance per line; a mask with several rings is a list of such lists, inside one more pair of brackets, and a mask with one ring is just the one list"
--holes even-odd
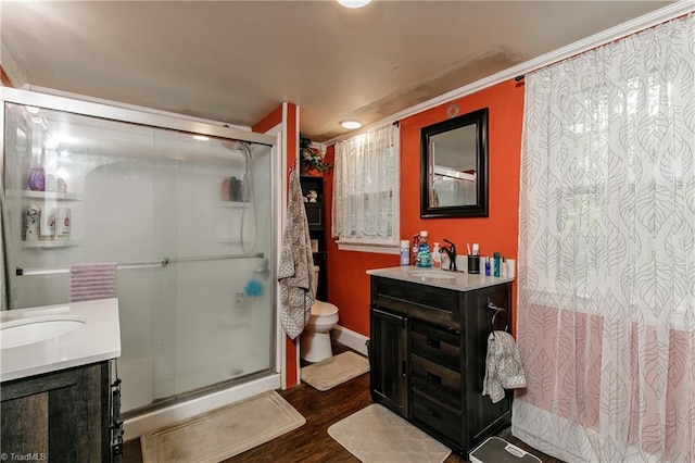
[(111, 462), (109, 362), (2, 383), (2, 452)]

